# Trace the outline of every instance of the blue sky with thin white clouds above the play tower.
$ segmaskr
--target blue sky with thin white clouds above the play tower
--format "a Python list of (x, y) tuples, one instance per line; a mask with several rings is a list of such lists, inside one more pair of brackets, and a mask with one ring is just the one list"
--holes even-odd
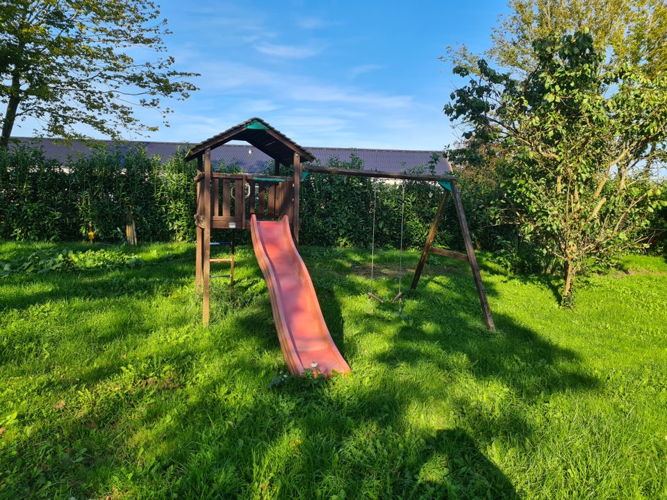
[(260, 117), (304, 146), (377, 149), (454, 141), (442, 112), (454, 76), (438, 56), (457, 42), (486, 49), (507, 11), (502, 0), (158, 3), (176, 69), (201, 76), (150, 140), (201, 142)]

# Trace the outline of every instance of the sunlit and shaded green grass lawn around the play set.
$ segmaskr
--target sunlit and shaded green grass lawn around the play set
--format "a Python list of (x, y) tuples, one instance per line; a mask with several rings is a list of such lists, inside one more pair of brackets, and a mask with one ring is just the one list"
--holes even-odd
[[(399, 306), (366, 297), (370, 253), (303, 248), (352, 367), (322, 381), (285, 376), (252, 249), (202, 328), (194, 255), (0, 244), (1, 499), (667, 498), (663, 258), (563, 310), (481, 256), (491, 333), (462, 263)], [(380, 297), (398, 263), (376, 256)]]

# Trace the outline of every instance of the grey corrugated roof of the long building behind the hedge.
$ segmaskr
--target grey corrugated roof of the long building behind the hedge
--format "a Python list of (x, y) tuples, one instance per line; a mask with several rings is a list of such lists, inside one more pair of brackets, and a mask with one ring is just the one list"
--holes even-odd
[[(54, 139), (35, 138), (13, 138), (19, 144), (31, 144), (33, 147), (42, 147), (44, 156), (56, 158), (60, 161), (67, 160), (68, 156), (81, 153), (90, 153), (90, 145), (80, 141), (71, 141), (65, 144)], [(193, 144), (187, 142), (152, 142), (152, 141), (128, 141), (115, 143), (113, 141), (95, 141), (100, 147), (112, 148), (115, 144), (128, 149), (143, 147), (148, 156), (158, 155), (163, 162), (171, 158), (176, 151), (188, 151)], [(10, 148), (12, 143), (10, 143)], [(377, 170), (382, 172), (404, 172), (415, 167), (421, 167), (429, 163), (431, 158), (438, 156), (435, 164), (435, 174), (450, 173), (450, 167), (443, 158), (442, 151), (411, 151), (399, 149), (356, 149), (356, 148), (327, 148), (306, 147), (322, 165), (327, 165), (329, 158), (338, 158), (341, 161), (349, 161), (352, 155), (363, 160), (365, 170)], [(242, 172), (248, 174), (259, 174), (269, 169), (272, 172), (273, 160), (265, 153), (249, 144), (224, 144), (211, 151), (211, 160), (215, 169), (220, 162), (224, 165), (237, 165)], [(426, 172), (429, 173), (429, 172)]]

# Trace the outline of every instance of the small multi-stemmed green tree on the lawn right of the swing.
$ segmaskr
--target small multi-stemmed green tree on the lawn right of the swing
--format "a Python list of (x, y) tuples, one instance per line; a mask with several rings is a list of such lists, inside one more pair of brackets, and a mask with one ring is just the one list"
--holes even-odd
[[(536, 40), (525, 79), (478, 60), (445, 113), (468, 130), (454, 161), (495, 157), (520, 233), (562, 263), (563, 305), (594, 260), (639, 244), (652, 210), (648, 179), (664, 160), (667, 78), (611, 66), (588, 30)], [(455, 73), (470, 76), (466, 67)]]

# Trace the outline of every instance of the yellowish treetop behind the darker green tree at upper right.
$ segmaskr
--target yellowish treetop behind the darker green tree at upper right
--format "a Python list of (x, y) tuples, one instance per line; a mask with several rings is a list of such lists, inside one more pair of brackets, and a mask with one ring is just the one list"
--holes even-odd
[(443, 59), (476, 72), (475, 60), (484, 58), (525, 77), (536, 65), (534, 40), (588, 28), (596, 49), (615, 65), (632, 65), (647, 76), (667, 69), (665, 0), (509, 0), (508, 7), (488, 50), (475, 55), (463, 44), (448, 48)]

